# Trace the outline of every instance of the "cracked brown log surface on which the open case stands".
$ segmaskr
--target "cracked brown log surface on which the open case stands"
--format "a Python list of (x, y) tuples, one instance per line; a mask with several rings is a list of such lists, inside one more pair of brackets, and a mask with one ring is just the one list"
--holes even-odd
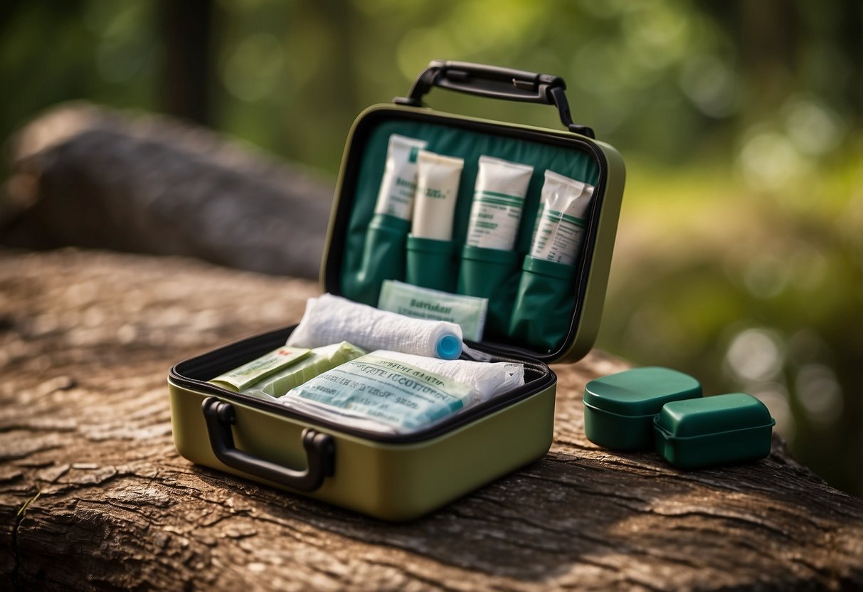
[[(296, 321), (308, 280), (171, 258), (0, 251), (0, 589), (859, 589), (863, 501), (774, 439), (678, 472), (583, 435), (594, 353), (555, 368), (537, 463), (404, 525), (193, 466), (167, 370)], [(5, 583), (5, 584), (3, 584)]]

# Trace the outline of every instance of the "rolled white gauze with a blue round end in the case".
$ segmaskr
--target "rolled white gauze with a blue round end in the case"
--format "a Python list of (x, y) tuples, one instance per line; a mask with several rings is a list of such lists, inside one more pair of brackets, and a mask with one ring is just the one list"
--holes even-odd
[(308, 299), (287, 345), (318, 348), (342, 341), (366, 351), (395, 350), (445, 360), (456, 359), (463, 347), (462, 328), (455, 323), (379, 311), (330, 293)]

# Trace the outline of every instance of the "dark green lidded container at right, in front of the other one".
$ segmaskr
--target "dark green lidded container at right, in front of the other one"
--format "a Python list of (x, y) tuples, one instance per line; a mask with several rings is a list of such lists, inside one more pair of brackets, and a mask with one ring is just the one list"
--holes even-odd
[(775, 424), (765, 404), (746, 393), (674, 401), (653, 419), (656, 450), (678, 469), (764, 458)]

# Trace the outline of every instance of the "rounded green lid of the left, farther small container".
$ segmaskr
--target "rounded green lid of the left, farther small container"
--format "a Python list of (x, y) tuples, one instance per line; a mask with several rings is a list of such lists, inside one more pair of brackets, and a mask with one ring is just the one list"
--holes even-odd
[(669, 401), (701, 396), (696, 379), (671, 368), (633, 368), (584, 387), (585, 405), (630, 417), (655, 415)]

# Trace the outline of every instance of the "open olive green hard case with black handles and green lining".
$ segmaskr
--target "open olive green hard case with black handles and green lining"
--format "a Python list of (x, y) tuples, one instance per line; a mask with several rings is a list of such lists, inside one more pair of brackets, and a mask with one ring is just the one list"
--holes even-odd
[[(565, 129), (430, 110), (420, 99), (432, 87), (551, 104)], [(513, 303), (526, 303), (521, 305), (520, 324), (492, 321), (489, 312), (486, 338), (469, 342), (492, 361), (524, 363), (524, 387), (425, 430), (392, 435), (307, 418), (272, 401), (208, 382), (284, 344), (293, 331), (287, 327), (171, 368), (171, 421), (180, 454), (193, 463), (384, 520), (417, 518), (543, 457), (551, 446), (557, 383), (547, 364), (575, 361), (593, 345), (624, 183), (620, 154), (595, 141), (591, 129), (572, 123), (564, 89), (564, 81), (556, 76), (434, 61), (408, 97), (365, 110), (346, 144), (321, 268), (325, 292), (372, 305), (377, 304), (382, 280), (404, 278), (404, 268), (392, 261), (400, 258), (400, 265), (405, 264), (405, 229), (374, 214), (387, 139), (393, 133), (425, 139), (427, 149), (464, 159), (455, 245), (450, 249), (453, 279), (463, 255), (479, 155), (533, 164), (536, 170), (513, 249), (516, 262), (510, 275), (495, 273), (502, 278), (495, 295), (505, 295), (495, 302), (501, 308), (498, 318), (506, 318), (504, 309), (512, 314)], [(586, 239), (577, 265), (567, 274), (525, 256), (546, 168), (595, 186)], [(474, 267), (474, 261), (483, 260), (482, 253), (470, 255)], [(535, 271), (541, 273), (527, 277)]]

